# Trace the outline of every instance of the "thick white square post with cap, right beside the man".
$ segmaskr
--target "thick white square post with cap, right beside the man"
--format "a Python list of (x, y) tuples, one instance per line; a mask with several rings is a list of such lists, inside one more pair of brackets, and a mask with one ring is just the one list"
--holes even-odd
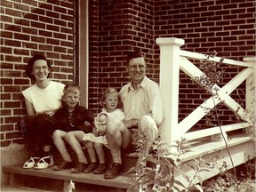
[(176, 140), (179, 111), (180, 46), (185, 44), (179, 38), (157, 38), (160, 47), (160, 90), (164, 100), (164, 122), (160, 135), (164, 143)]

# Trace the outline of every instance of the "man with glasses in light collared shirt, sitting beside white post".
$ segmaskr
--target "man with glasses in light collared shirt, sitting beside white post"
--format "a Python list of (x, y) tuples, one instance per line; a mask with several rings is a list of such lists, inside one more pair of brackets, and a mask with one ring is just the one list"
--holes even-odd
[[(138, 138), (145, 136), (146, 149), (156, 140), (157, 126), (164, 118), (163, 100), (156, 82), (146, 75), (147, 64), (140, 52), (130, 52), (127, 55), (126, 70), (132, 81), (125, 84), (120, 91), (124, 104), (124, 124), (109, 121), (107, 140), (113, 158), (111, 168), (105, 173), (105, 179), (114, 179), (122, 170), (121, 148), (131, 149), (134, 132)], [(134, 141), (134, 140), (133, 140)]]

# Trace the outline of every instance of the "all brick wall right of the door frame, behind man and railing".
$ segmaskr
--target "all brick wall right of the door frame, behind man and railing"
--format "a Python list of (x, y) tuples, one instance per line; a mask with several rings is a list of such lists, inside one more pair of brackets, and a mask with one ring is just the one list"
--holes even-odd
[[(95, 62), (93, 68), (90, 68), (95, 71), (93, 83), (96, 83), (98, 88), (94, 89), (97, 92), (90, 94), (96, 100), (100, 99), (101, 92), (106, 87), (121, 87), (129, 81), (124, 71), (124, 56), (130, 50), (139, 49), (146, 54), (148, 76), (159, 82), (157, 37), (182, 38), (186, 44), (181, 49), (191, 52), (210, 54), (215, 50), (218, 56), (234, 60), (255, 56), (253, 0), (94, 0), (93, 3), (98, 7), (99, 17), (96, 19), (92, 14), (95, 19), (93, 26), (98, 27), (97, 33), (93, 33), (93, 50), (97, 49), (98, 52), (97, 56), (92, 52)], [(223, 85), (241, 69), (220, 70), (225, 71), (223, 82), (220, 82), (220, 85)], [(241, 89), (244, 90), (244, 87)], [(236, 93), (235, 96), (237, 98)], [(237, 99), (239, 102), (243, 102), (244, 95), (241, 96), (242, 99)], [(202, 94), (196, 84), (192, 84), (188, 76), (181, 72), (180, 119), (188, 116), (207, 97), (209, 95)], [(91, 108), (98, 108), (95, 102), (90, 105)], [(223, 121), (236, 121), (235, 116), (230, 117), (232, 112), (230, 114), (228, 108), (224, 108), (224, 111), (226, 112), (221, 116)], [(204, 121), (196, 126), (205, 126)]]

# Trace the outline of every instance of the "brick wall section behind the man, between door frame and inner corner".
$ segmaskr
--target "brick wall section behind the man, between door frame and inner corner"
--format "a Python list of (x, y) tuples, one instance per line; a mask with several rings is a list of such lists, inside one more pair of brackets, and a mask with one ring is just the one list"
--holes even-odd
[[(97, 8), (96, 8), (97, 7)], [(90, 108), (97, 108), (101, 93), (108, 87), (120, 88), (129, 81), (125, 55), (140, 50), (148, 58), (148, 76), (157, 81), (159, 67), (154, 66), (153, 1), (90, 1)], [(93, 31), (92, 31), (93, 30)], [(92, 72), (92, 73), (91, 73)], [(93, 74), (93, 76), (92, 76)], [(96, 91), (96, 92), (95, 92)]]

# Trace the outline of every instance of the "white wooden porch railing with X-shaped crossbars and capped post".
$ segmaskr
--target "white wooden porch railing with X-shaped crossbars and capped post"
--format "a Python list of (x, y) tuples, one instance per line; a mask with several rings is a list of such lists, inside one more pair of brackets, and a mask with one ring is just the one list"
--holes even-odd
[[(219, 127), (212, 127), (196, 132), (188, 132), (201, 118), (203, 118), (212, 108), (220, 101), (230, 108), (244, 122), (238, 124), (223, 125), (222, 130), (225, 132), (242, 129), (253, 124), (252, 117), (255, 117), (255, 74), (256, 59), (244, 58), (244, 61), (224, 59), (223, 64), (244, 67), (228, 84), (218, 86), (214, 84), (212, 91), (216, 91), (217, 96), (210, 97), (200, 106), (178, 123), (179, 112), (179, 82), (180, 69), (192, 79), (205, 76), (204, 73), (190, 62), (188, 59), (203, 60), (206, 59), (204, 54), (196, 52), (187, 52), (180, 50), (184, 44), (183, 39), (178, 38), (157, 38), (156, 44), (160, 46), (160, 89), (164, 100), (164, 122), (160, 126), (160, 133), (163, 141), (171, 144), (174, 140), (180, 140), (185, 137), (187, 140), (194, 140), (220, 133)], [(213, 57), (211, 60), (219, 62), (220, 57)], [(236, 100), (233, 100), (229, 94), (236, 90), (239, 84), (246, 81), (246, 109), (242, 108)], [(205, 111), (205, 108), (207, 110)], [(251, 114), (248, 111), (252, 112)]]

